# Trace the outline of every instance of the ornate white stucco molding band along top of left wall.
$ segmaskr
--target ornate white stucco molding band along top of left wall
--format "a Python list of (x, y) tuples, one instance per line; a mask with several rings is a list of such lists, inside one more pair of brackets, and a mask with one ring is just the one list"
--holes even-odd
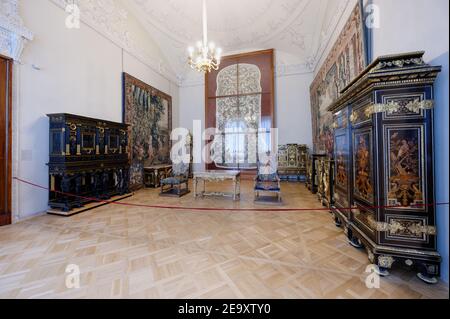
[(68, 4), (78, 5), (80, 20), (101, 35), (112, 41), (124, 51), (136, 57), (153, 71), (177, 85), (181, 84), (179, 76), (168, 66), (144, 52), (127, 27), (128, 12), (120, 8), (114, 0), (50, 0), (65, 10)]

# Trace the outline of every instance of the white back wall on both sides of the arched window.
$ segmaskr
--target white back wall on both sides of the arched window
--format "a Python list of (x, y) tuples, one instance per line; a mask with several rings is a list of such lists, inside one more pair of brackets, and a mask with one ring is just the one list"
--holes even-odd
[[(309, 86), (312, 73), (275, 78), (275, 124), (280, 144), (298, 143), (312, 147)], [(205, 86), (180, 88), (180, 126), (193, 130), (193, 121), (205, 125)], [(202, 144), (203, 147), (203, 144)], [(204, 165), (197, 164), (195, 169)]]

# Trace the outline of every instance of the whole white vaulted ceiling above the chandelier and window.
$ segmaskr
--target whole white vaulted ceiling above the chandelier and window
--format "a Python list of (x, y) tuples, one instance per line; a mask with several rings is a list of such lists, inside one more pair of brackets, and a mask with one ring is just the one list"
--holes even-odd
[[(186, 82), (187, 47), (202, 38), (202, 0), (128, 0), (128, 10)], [(207, 0), (208, 38), (224, 54), (274, 48), (278, 72), (312, 72), (351, 0)]]

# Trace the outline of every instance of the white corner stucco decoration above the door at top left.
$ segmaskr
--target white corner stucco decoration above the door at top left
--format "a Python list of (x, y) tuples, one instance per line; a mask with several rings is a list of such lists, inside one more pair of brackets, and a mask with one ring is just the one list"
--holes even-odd
[(19, 14), (19, 0), (0, 0), (0, 54), (20, 61), (33, 33), (25, 28)]

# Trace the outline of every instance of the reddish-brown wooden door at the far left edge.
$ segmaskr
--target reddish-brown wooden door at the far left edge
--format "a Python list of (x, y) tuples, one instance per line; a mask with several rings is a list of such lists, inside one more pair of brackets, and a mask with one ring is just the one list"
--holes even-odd
[(12, 61), (0, 56), (0, 226), (11, 224)]

